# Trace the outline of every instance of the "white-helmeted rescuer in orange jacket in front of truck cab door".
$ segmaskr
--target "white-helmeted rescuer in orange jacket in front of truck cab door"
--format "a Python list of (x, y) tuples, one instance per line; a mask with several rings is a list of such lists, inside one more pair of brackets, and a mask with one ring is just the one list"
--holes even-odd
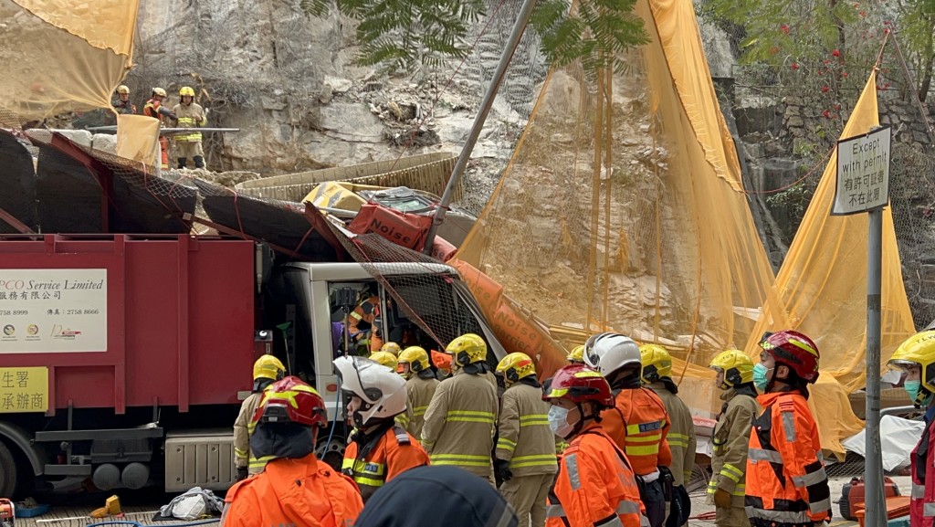
[(339, 357), (334, 363), (357, 427), (341, 472), (353, 478), (366, 503), (387, 481), (429, 464), (428, 454), (394, 420), (406, 411), (406, 381), (396, 370), (362, 357)]

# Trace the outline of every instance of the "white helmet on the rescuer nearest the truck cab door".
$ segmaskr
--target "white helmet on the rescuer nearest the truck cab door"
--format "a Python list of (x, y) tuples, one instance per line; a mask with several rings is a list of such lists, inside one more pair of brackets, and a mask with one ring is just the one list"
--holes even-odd
[(398, 373), (363, 357), (338, 357), (334, 364), (341, 389), (364, 402), (352, 415), (355, 426), (392, 419), (406, 411), (406, 380)]

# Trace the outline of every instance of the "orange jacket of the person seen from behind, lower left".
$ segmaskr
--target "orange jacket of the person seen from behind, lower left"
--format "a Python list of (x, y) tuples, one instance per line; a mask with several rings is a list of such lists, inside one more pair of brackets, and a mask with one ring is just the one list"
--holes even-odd
[(222, 527), (351, 527), (364, 508), (352, 479), (315, 454), (269, 461), (225, 501)]

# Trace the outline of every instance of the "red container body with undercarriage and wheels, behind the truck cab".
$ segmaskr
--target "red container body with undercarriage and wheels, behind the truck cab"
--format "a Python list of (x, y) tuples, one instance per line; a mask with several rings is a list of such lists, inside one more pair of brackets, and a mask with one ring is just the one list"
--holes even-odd
[(39, 475), (137, 488), (164, 455), (202, 458), (164, 475), (179, 487), (230, 485), (255, 251), (186, 235), (0, 240), (0, 496)]

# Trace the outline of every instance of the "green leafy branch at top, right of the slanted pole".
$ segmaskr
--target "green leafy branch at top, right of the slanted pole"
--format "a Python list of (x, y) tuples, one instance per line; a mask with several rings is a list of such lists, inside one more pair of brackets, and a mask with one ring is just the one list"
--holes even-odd
[(531, 24), (554, 66), (581, 60), (584, 73), (593, 79), (602, 69), (625, 70), (623, 51), (649, 42), (635, 5), (636, 0), (585, 0), (569, 16), (566, 0), (541, 0)]

